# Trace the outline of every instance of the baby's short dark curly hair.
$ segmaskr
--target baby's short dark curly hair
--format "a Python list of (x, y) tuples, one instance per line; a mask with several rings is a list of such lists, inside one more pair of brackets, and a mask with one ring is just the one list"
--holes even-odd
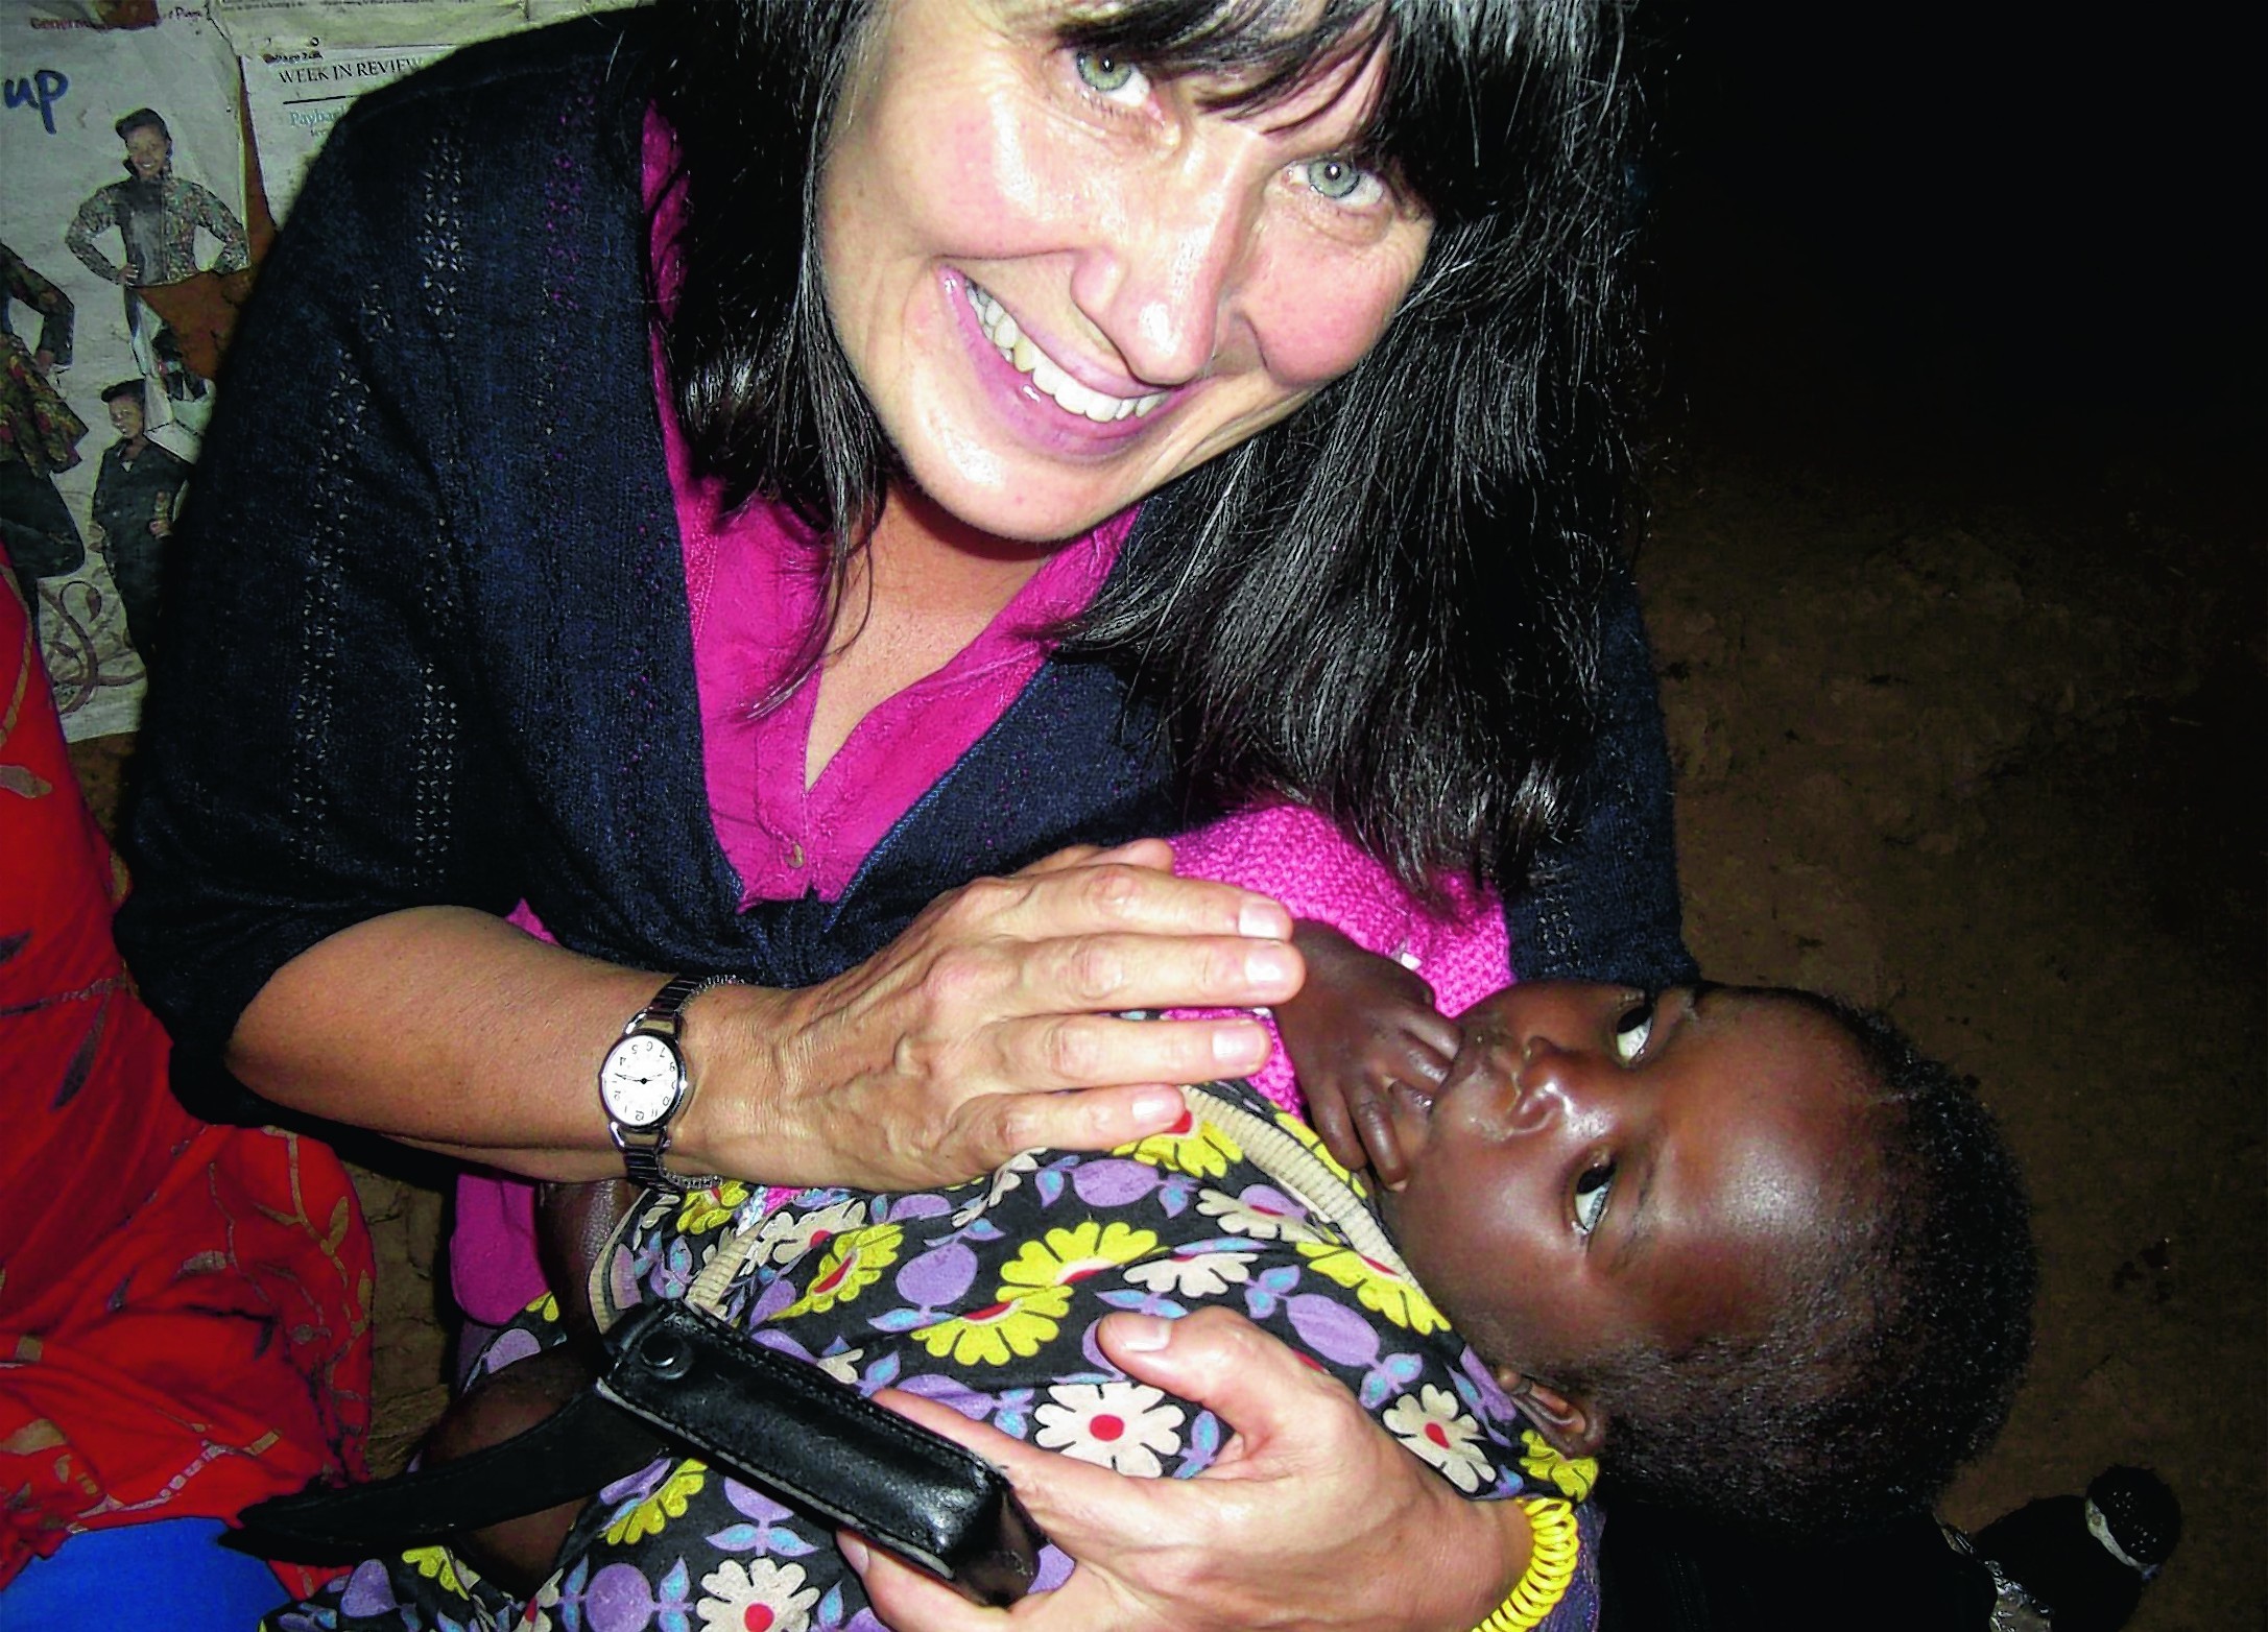
[(1563, 1383), (1606, 1412), (1628, 1489), (1783, 1539), (1930, 1503), (2007, 1419), (2039, 1263), (2016, 1163), (1973, 1081), (1880, 1013), (1785, 993), (1851, 1038), (1871, 1140), (1760, 1331), (1640, 1344)]

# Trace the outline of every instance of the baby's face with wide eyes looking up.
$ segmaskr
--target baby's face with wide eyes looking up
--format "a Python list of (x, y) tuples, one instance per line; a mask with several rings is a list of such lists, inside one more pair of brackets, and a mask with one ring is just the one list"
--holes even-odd
[(1431, 1104), (1397, 1090), (1411, 1269), (1488, 1358), (1551, 1378), (1633, 1340), (1742, 1331), (1814, 1240), (1860, 1061), (1771, 993), (1533, 981), (1470, 1009)]

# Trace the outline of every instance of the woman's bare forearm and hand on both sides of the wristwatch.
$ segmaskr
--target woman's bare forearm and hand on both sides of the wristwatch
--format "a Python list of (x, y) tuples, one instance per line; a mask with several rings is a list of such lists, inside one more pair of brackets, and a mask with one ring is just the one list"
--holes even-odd
[[(948, 891), (819, 986), (705, 991), (678, 1038), (694, 1093), (669, 1165), (909, 1190), (1168, 1127), (1168, 1083), (1250, 1072), (1268, 1038), (1245, 1015), (1118, 1013), (1281, 1002), (1300, 957), (1281, 907), (1163, 859), (1161, 843), (1066, 850)], [(617, 968), (474, 909), (415, 907), (279, 968), (227, 1063), (295, 1111), (535, 1179), (601, 1179), (621, 1167), (599, 1061), (683, 972), (708, 970)]]

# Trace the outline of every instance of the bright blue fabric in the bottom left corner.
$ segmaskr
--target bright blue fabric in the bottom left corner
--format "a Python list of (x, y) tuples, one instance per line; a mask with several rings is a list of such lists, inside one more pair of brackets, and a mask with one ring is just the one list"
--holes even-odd
[(0, 1591), (0, 1632), (247, 1632), (290, 1598), (218, 1519), (156, 1519), (70, 1537)]

